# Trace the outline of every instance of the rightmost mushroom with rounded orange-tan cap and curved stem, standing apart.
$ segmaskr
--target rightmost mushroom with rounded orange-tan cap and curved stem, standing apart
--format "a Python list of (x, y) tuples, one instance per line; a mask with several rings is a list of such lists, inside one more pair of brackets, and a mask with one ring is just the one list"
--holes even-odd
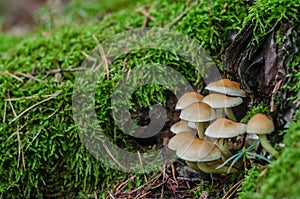
[(272, 156), (278, 158), (279, 153), (268, 142), (267, 134), (274, 131), (274, 123), (262, 113), (255, 114), (247, 123), (247, 133), (258, 135), (262, 147)]

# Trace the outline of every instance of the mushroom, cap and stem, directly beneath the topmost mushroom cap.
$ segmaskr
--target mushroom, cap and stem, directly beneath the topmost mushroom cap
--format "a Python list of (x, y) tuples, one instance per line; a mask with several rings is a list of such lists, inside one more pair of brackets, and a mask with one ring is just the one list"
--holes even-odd
[(223, 109), (227, 117), (233, 121), (237, 121), (233, 114), (232, 107), (240, 105), (243, 100), (240, 97), (228, 97), (223, 94), (210, 94), (203, 98), (202, 102), (210, 105), (212, 108), (216, 109), (217, 117), (223, 117)]

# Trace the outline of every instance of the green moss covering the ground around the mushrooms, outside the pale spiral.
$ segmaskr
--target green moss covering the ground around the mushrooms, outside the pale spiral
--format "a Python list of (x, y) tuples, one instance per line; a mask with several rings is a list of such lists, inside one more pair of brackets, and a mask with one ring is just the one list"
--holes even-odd
[[(104, 13), (101, 18), (97, 18), (93, 6), (73, 4), (66, 13), (68, 23), (55, 25), (45, 21), (45, 26), (22, 37), (0, 33), (0, 198), (95, 198), (95, 195), (105, 198), (118, 188), (117, 184), (127, 179), (134, 180), (127, 181), (126, 188), (122, 190), (125, 193), (126, 189), (135, 190), (147, 183), (147, 179), (154, 182), (150, 179), (161, 175), (133, 175), (107, 168), (81, 143), (72, 114), (74, 81), (79, 73), (73, 69), (81, 67), (85, 59), (82, 52), (89, 53), (96, 46), (93, 34), (101, 42), (132, 28), (171, 27), (199, 42), (221, 70), (222, 56), (232, 42), (231, 36), (238, 34), (248, 22), (255, 25), (253, 41), (249, 45), (256, 45), (266, 34), (274, 31), (273, 27), (287, 22), (294, 26), (293, 42), (299, 40), (299, 32), (296, 31), (299, 30), (299, 1), (143, 0), (138, 5), (133, 5), (132, 1), (125, 2), (108, 4), (113, 7), (112, 12), (101, 10)], [(142, 6), (153, 17), (152, 20), (136, 11)], [(75, 11), (78, 7), (83, 11)], [(175, 20), (178, 16), (181, 17)], [(279, 44), (285, 41), (280, 32), (276, 34)], [(253, 165), (246, 171), (238, 191), (241, 198), (297, 198), (300, 195), (299, 57), (299, 53), (290, 55), (291, 61), (287, 63), (289, 72), (280, 88), (288, 91), (283, 100), (288, 100), (287, 103), (293, 107), (291, 110), (296, 110), (284, 130), (277, 132), (284, 135), (284, 147), (277, 146), (281, 156), (268, 166)], [(166, 64), (184, 75), (191, 85), (197, 83), (195, 86), (199, 89), (203, 86), (201, 81), (198, 82), (197, 71), (191, 70), (188, 62), (169, 52), (142, 50), (132, 52), (124, 60), (127, 68), (139, 63)], [(115, 68), (111, 78), (98, 84), (95, 93), (97, 118), (113, 142), (126, 150), (137, 147), (143, 150), (112, 122), (109, 101), (122, 76), (124, 60), (116, 60), (110, 66), (110, 69)], [(133, 99), (136, 100), (133, 104), (143, 107), (166, 103), (165, 91), (151, 85), (135, 92)], [(267, 108), (258, 108), (254, 112), (269, 110), (268, 104), (260, 106)], [(172, 175), (170, 170), (167, 173)], [(222, 198), (225, 194), (222, 188), (229, 190), (242, 178), (241, 175), (224, 178), (221, 182), (227, 184), (216, 186), (220, 189), (211, 182), (197, 182), (197, 187), (186, 190), (186, 194), (204, 197), (207, 193), (210, 198)], [(158, 191), (151, 189), (153, 197), (163, 195), (163, 189), (159, 188)], [(174, 197), (174, 192), (176, 189), (170, 191), (170, 197)]]

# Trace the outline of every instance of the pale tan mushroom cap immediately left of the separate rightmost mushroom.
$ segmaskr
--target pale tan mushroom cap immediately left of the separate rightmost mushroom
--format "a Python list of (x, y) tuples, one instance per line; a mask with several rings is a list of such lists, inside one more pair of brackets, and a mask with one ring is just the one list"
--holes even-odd
[(232, 138), (244, 134), (245, 131), (245, 124), (219, 118), (207, 127), (205, 135), (212, 138)]

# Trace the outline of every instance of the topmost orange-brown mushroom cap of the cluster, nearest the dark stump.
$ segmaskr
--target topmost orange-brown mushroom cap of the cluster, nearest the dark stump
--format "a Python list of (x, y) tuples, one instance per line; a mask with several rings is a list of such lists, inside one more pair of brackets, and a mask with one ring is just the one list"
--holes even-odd
[(246, 97), (245, 91), (240, 88), (239, 84), (229, 79), (221, 79), (211, 82), (205, 87), (205, 89), (226, 95)]

